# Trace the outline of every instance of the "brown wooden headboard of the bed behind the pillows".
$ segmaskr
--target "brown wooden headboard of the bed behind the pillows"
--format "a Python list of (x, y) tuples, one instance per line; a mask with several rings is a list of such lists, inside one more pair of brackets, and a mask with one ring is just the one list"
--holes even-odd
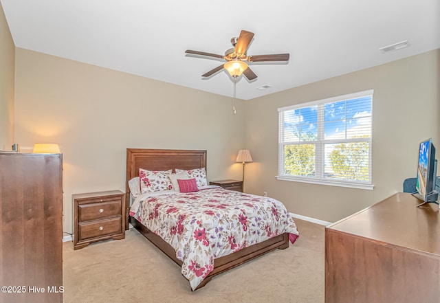
[(146, 170), (173, 170), (180, 168), (190, 170), (193, 168), (206, 169), (206, 150), (174, 150), (174, 149), (126, 149), (126, 224), (128, 229), (130, 210), (130, 188), (129, 180), (139, 177), (139, 168)]

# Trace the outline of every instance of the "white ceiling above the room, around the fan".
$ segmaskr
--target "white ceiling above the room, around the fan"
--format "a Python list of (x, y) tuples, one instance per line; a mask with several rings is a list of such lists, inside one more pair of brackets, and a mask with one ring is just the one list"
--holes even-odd
[[(223, 60), (241, 30), (248, 55), (289, 53), (286, 63), (251, 63), (236, 96), (251, 99), (440, 48), (439, 0), (0, 0), (17, 47), (184, 87), (232, 96), (232, 78), (201, 75)], [(382, 54), (380, 47), (410, 47)], [(257, 89), (270, 85), (263, 91)]]

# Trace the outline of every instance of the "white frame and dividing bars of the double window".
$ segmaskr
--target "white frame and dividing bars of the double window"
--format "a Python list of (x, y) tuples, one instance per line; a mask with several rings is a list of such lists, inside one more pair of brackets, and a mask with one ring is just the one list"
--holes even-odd
[[(278, 175), (276, 179), (282, 181), (296, 181), (296, 182), (304, 182), (304, 183), (312, 183), (312, 184), (323, 184), (328, 186), (341, 186), (347, 188), (359, 188), (365, 190), (373, 190), (373, 174), (372, 174), (372, 151), (373, 151), (373, 95), (374, 90), (369, 89), (367, 91), (360, 91), (358, 93), (349, 93), (343, 96), (336, 96), (332, 98), (326, 98), (322, 100), (316, 100), (307, 103), (301, 103), (291, 106), (284, 106), (278, 108)], [(371, 96), (371, 135), (366, 138), (351, 138), (351, 139), (325, 139), (324, 134), (324, 115), (320, 114), (321, 111), (318, 111), (318, 139), (313, 141), (298, 141), (298, 142), (283, 142), (284, 135), (284, 120), (283, 113), (285, 111), (296, 110), (296, 109), (304, 109), (311, 106), (322, 106), (325, 104), (332, 102), (340, 102), (340, 101), (348, 101), (356, 98)], [(323, 113), (323, 111), (322, 111)], [(345, 116), (347, 120), (347, 115)], [(347, 131), (347, 129), (346, 129)], [(349, 181), (344, 179), (331, 179), (324, 177), (324, 164), (325, 164), (325, 144), (340, 144), (340, 143), (348, 143), (348, 142), (367, 142), (369, 144), (369, 181)], [(292, 144), (315, 144), (316, 153), (315, 153), (315, 176), (314, 177), (302, 177), (302, 176), (292, 176), (292, 175), (283, 175), (285, 170), (284, 163), (284, 153), (285, 146)], [(319, 159), (318, 159), (319, 158)]]

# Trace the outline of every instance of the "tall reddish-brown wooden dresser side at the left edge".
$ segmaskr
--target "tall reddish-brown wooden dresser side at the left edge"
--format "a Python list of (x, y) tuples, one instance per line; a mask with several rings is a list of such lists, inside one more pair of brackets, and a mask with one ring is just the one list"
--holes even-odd
[(61, 154), (0, 153), (0, 303), (63, 302)]

